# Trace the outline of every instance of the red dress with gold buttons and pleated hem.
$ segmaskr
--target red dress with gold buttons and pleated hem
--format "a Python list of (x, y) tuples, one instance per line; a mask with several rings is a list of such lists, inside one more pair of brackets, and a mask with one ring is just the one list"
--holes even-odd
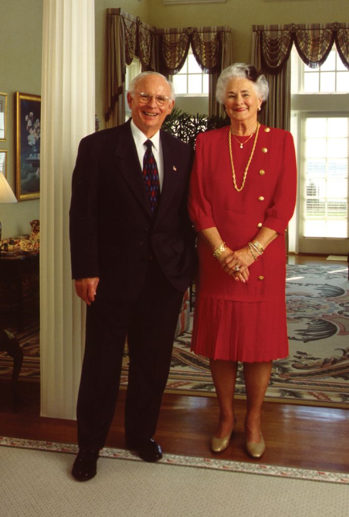
[[(196, 231), (216, 226), (232, 250), (246, 246), (262, 225), (280, 235), (249, 267), (246, 283), (229, 277), (198, 236), (192, 350), (213, 359), (269, 361), (288, 355), (284, 232), (296, 200), (293, 139), (288, 131), (261, 126), (245, 187), (237, 192), (228, 133), (229, 127), (216, 129), (196, 141), (188, 202)], [(239, 188), (254, 138), (243, 149), (232, 139)]]

